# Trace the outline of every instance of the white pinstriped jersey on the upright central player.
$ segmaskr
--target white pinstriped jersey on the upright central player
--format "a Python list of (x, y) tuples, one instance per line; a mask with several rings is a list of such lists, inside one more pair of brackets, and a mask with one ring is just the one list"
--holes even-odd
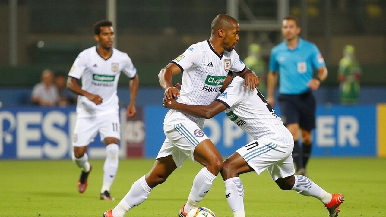
[[(220, 56), (209, 41), (192, 44), (172, 63), (179, 66), (183, 73), (177, 102), (187, 105), (209, 105), (218, 96), (229, 70), (235, 73), (245, 70), (235, 50), (224, 51)], [(204, 125), (204, 119), (173, 109), (166, 114), (164, 124), (174, 125), (187, 121), (193, 121), (200, 127)]]

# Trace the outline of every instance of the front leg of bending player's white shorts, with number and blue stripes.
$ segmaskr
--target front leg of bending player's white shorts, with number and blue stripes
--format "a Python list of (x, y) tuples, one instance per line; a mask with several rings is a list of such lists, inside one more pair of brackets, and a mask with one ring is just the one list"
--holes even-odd
[(260, 174), (272, 165), (291, 156), (292, 149), (293, 144), (282, 145), (269, 138), (259, 138), (237, 149), (236, 152), (257, 174)]

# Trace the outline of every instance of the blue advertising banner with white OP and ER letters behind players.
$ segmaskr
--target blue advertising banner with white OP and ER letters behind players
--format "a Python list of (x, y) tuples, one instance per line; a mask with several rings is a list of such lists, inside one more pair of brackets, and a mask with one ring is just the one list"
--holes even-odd
[[(278, 109), (277, 114), (280, 115)], [(145, 108), (146, 157), (155, 157), (165, 135), (163, 119), (168, 109)], [(376, 156), (376, 106), (318, 106), (313, 131), (313, 156)], [(222, 156), (229, 156), (252, 140), (225, 113), (205, 120), (205, 134)]]

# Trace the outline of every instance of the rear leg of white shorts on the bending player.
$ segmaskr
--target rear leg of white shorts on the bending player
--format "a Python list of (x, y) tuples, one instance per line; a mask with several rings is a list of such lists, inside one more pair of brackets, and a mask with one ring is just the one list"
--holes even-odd
[[(281, 151), (291, 153), (293, 146), (281, 147)], [(286, 158), (278, 161), (267, 168), (269, 175), (273, 181), (278, 178), (286, 178), (295, 174), (295, 168), (293, 165), (292, 154), (289, 154)]]

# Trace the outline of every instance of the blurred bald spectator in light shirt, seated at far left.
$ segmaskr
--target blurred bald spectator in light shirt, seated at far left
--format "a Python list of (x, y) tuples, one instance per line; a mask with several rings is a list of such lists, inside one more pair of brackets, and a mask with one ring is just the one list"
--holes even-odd
[(58, 88), (53, 83), (53, 73), (50, 69), (42, 71), (42, 82), (32, 89), (32, 103), (41, 106), (55, 106), (59, 99)]

